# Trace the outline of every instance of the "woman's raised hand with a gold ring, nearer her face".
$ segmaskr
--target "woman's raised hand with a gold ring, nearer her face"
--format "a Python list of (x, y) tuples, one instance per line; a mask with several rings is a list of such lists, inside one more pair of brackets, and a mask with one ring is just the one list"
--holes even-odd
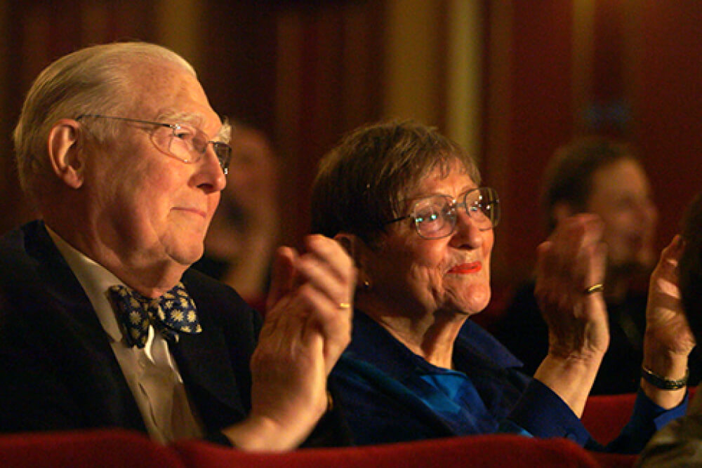
[(537, 250), (535, 294), (548, 324), (549, 349), (534, 378), (578, 416), (609, 345), (602, 229), (596, 215), (575, 215), (559, 222)]

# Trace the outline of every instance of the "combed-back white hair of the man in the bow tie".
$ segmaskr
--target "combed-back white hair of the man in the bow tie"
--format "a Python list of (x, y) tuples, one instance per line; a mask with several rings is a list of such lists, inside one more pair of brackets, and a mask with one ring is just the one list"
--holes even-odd
[[(34, 200), (51, 171), (46, 152), (48, 133), (60, 119), (81, 114), (119, 115), (139, 96), (130, 92), (134, 65), (169, 62), (196, 76), (177, 53), (145, 42), (116, 42), (82, 48), (56, 60), (29, 88), (13, 133), (22, 189)], [(100, 119), (91, 126), (98, 140), (115, 134), (115, 123)]]

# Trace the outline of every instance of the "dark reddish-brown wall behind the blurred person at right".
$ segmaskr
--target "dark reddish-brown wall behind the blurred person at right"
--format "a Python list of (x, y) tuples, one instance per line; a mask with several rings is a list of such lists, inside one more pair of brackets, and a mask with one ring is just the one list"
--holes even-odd
[(583, 133), (635, 145), (660, 210), (658, 247), (702, 189), (702, 3), (487, 2), (484, 173), (504, 201), (495, 283), (530, 273), (545, 236), (538, 185)]

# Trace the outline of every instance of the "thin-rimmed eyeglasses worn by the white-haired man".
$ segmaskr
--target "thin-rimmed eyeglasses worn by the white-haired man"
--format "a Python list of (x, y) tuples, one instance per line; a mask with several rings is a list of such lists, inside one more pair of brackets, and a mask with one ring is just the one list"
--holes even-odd
[(166, 123), (154, 122), (140, 119), (129, 119), (128, 117), (115, 117), (101, 114), (81, 114), (76, 120), (86, 117), (91, 119), (114, 119), (126, 122), (145, 123), (163, 128), (170, 128), (171, 131), (154, 131), (151, 140), (161, 151), (173, 156), (184, 163), (196, 163), (207, 151), (207, 145), (212, 145), (217, 160), (222, 171), (226, 174), (229, 163), (232, 159), (232, 147), (225, 142), (207, 140), (207, 135), (198, 128), (187, 123)]

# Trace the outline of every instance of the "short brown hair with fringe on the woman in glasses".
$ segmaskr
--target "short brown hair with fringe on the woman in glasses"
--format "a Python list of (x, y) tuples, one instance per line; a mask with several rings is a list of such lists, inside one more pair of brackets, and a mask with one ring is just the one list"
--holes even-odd
[(356, 234), (373, 243), (389, 220), (406, 213), (403, 199), (428, 173), (445, 177), (458, 162), (475, 184), (475, 161), (436, 128), (385, 121), (357, 128), (326, 154), (312, 185), (312, 232)]

